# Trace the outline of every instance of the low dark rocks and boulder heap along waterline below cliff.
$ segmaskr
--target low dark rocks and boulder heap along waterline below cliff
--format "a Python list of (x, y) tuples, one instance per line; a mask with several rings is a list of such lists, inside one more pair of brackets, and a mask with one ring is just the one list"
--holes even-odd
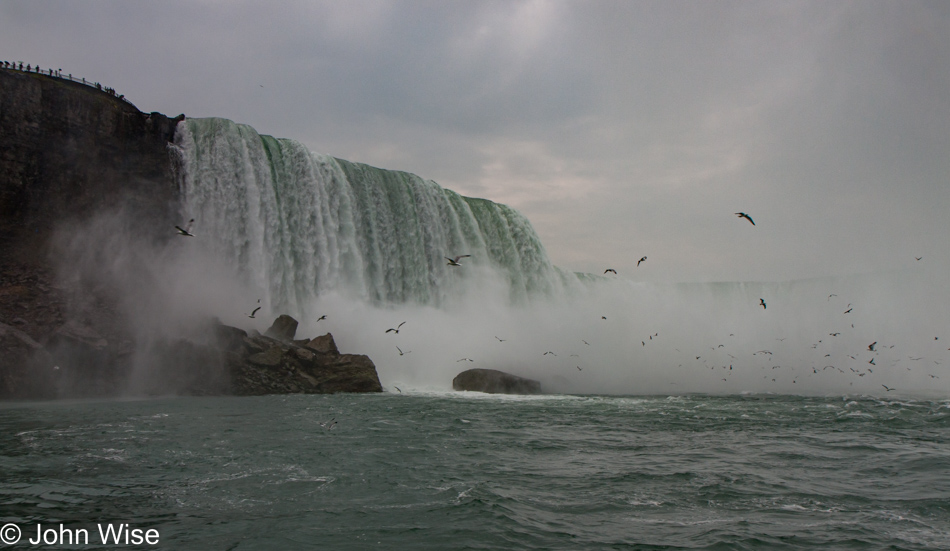
[(296, 327), (290, 316), (264, 335), (212, 321), (194, 338), (133, 344), (75, 322), (43, 342), (0, 323), (0, 398), (382, 392), (367, 356), (341, 354), (329, 333), (294, 340)]

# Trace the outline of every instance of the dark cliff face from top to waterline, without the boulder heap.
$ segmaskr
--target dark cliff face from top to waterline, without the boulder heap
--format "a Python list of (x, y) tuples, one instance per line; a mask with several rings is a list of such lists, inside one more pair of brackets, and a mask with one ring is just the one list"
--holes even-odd
[[(115, 391), (130, 340), (114, 297), (65, 285), (55, 243), (107, 211), (143, 235), (178, 223), (168, 144), (182, 118), (0, 69), (0, 397)], [(69, 384), (52, 384), (64, 375)]]

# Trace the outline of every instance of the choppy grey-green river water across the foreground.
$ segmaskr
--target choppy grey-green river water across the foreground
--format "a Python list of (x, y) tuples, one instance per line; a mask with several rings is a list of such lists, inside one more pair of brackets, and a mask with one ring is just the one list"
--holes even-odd
[(950, 549), (947, 400), (7, 403), (0, 450), (0, 524), (74, 548)]

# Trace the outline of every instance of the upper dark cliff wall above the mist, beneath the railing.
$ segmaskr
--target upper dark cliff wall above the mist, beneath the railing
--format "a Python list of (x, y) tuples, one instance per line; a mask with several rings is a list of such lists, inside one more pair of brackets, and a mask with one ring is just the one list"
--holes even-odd
[(0, 250), (119, 204), (170, 219), (178, 190), (167, 144), (182, 118), (142, 113), (77, 82), (0, 69)]

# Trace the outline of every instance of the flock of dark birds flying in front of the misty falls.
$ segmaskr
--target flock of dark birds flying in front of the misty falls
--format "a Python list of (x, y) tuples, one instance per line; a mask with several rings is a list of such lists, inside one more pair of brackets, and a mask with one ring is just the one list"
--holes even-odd
[[(748, 214), (744, 212), (737, 212), (735, 214), (740, 219), (746, 219), (749, 221), (750, 224), (752, 224), (753, 226), (755, 225), (755, 222), (752, 220), (752, 217), (749, 216)], [(175, 226), (175, 229), (177, 230), (178, 234), (181, 236), (194, 237), (195, 234), (192, 233), (194, 222), (195, 222), (194, 219), (191, 219), (188, 221), (187, 224), (185, 224), (184, 227)], [(458, 255), (454, 257), (445, 257), (445, 259), (448, 261), (446, 265), (451, 266), (451, 267), (461, 267), (462, 266), (461, 260), (464, 258), (470, 258), (470, 257), (471, 255), (468, 255), (468, 254)], [(923, 257), (915, 257), (917, 261), (920, 261), (922, 258)], [(637, 261), (637, 266), (639, 267), (640, 264), (645, 262), (646, 260), (647, 260), (646, 256), (641, 257)], [(617, 275), (617, 270), (613, 268), (607, 268), (606, 270), (604, 270), (604, 274), (606, 275), (608, 273)], [(838, 295), (835, 293), (829, 294), (827, 296), (827, 301), (830, 302), (833, 298), (837, 296)], [(257, 302), (258, 302), (258, 306), (254, 308), (254, 310), (250, 314), (248, 314), (248, 317), (251, 319), (254, 319), (257, 312), (261, 309), (261, 306), (259, 306), (260, 300), (258, 300)], [(766, 310), (768, 308), (764, 298), (759, 299), (758, 306), (761, 306), (763, 310)], [(854, 308), (852, 304), (848, 303), (841, 315), (851, 314), (853, 311), (854, 311)], [(322, 321), (322, 320), (325, 320), (326, 318), (327, 316), (323, 315), (320, 318), (318, 318), (317, 321)], [(601, 316), (601, 319), (607, 320), (607, 317)], [(386, 334), (392, 333), (393, 335), (398, 335), (400, 330), (405, 324), (406, 324), (406, 321), (402, 321), (399, 324), (397, 324), (395, 327), (390, 327), (386, 329), (384, 333)], [(854, 329), (853, 323), (850, 324), (850, 328), (852, 330)], [(832, 340), (841, 335), (842, 335), (842, 331), (832, 331), (832, 332), (827, 333), (827, 336), (832, 337)], [(734, 337), (735, 334), (729, 333), (728, 336), (731, 338), (731, 337)], [(497, 335), (495, 335), (494, 338), (499, 343), (504, 343), (508, 340), (508, 339), (502, 339), (498, 337)], [(658, 340), (658, 338), (659, 338), (659, 332), (653, 332), (652, 334), (648, 335), (648, 338), (640, 341), (641, 346), (646, 347), (648, 341), (654, 341), (654, 339)], [(779, 342), (782, 342), (785, 340), (785, 338), (778, 338), (776, 340)], [(816, 355), (812, 358), (813, 361), (811, 362), (811, 365), (809, 366), (798, 365), (800, 364), (799, 361), (796, 361), (796, 365), (783, 366), (781, 363), (777, 363), (777, 359), (778, 359), (777, 355), (773, 354), (773, 352), (771, 352), (768, 349), (760, 349), (751, 353), (751, 356), (754, 358), (753, 363), (756, 364), (754, 367), (758, 367), (758, 369), (762, 370), (765, 373), (763, 375), (763, 378), (767, 380), (770, 379), (771, 382), (773, 383), (778, 382), (780, 380), (779, 375), (776, 375), (776, 373), (781, 373), (781, 372), (778, 372), (776, 370), (786, 370), (790, 372), (786, 380), (790, 378), (792, 384), (798, 384), (798, 381), (802, 379), (803, 376), (822, 375), (828, 370), (831, 370), (830, 371), (831, 373), (838, 374), (838, 375), (850, 375), (856, 378), (863, 378), (865, 376), (873, 375), (874, 368), (876, 368), (879, 365), (876, 360), (882, 357), (881, 354), (883, 353), (883, 350), (886, 349), (888, 352), (890, 352), (897, 346), (895, 344), (891, 344), (886, 347), (884, 347), (883, 345), (879, 346), (879, 342), (874, 341), (867, 345), (866, 350), (852, 351), (852, 352), (843, 354), (839, 358), (834, 358), (833, 354), (835, 350), (837, 349), (837, 347), (831, 346), (832, 340), (826, 340), (824, 337), (820, 339), (816, 339), (816, 340), (817, 342), (815, 342), (811, 346), (811, 348), (816, 351)], [(939, 340), (939, 337), (934, 337), (934, 341), (938, 341), (938, 340)], [(580, 339), (580, 342), (583, 343), (585, 346), (590, 346), (590, 343), (587, 340)], [(727, 347), (726, 344), (723, 344), (723, 343), (719, 343), (716, 346), (709, 346), (709, 348), (713, 350), (714, 352), (713, 354), (703, 353), (703, 354), (698, 354), (698, 355), (690, 355), (689, 357), (691, 358), (691, 360), (689, 361), (693, 365), (701, 365), (702, 367), (708, 368), (713, 371), (722, 370), (722, 373), (726, 376), (721, 377), (721, 380), (729, 381), (729, 372), (734, 371), (734, 364), (737, 363), (738, 360), (740, 360), (741, 356), (733, 355), (729, 347)], [(411, 350), (403, 350), (399, 346), (396, 346), (396, 350), (399, 356), (406, 356), (412, 352)], [(682, 354), (682, 352), (679, 349), (674, 349), (674, 350), (677, 353)], [(948, 348), (947, 350), (950, 350), (950, 348)], [(870, 352), (871, 354), (868, 356), (861, 356), (861, 354), (864, 352)], [(746, 353), (748, 354), (748, 352)], [(728, 357), (729, 360), (725, 360), (724, 359), (725, 357), (723, 356), (723, 354), (725, 354), (725, 357)], [(822, 355), (817, 355), (817, 354), (822, 354)], [(552, 358), (554, 358), (554, 357), (557, 357), (558, 355), (553, 350), (547, 350), (543, 352), (541, 356), (542, 357), (551, 356)], [(580, 358), (580, 355), (572, 353), (569, 355), (569, 357)], [(888, 367), (894, 367), (903, 360), (903, 358), (895, 359), (891, 354), (887, 354), (885, 357), (886, 357), (886, 361), (890, 362)], [(925, 357), (923, 356), (915, 357), (914, 355), (909, 355), (908, 359), (910, 361), (916, 362), (916, 361), (924, 360)], [(456, 362), (474, 362), (474, 361), (475, 360), (468, 357), (463, 357), (456, 360)], [(932, 361), (934, 365), (941, 365), (942, 363), (940, 360), (932, 360)], [(583, 368), (579, 364), (576, 364), (576, 362), (570, 362), (570, 363), (575, 363), (575, 368), (577, 369), (578, 372), (584, 371)], [(687, 364), (680, 363), (679, 367), (684, 367), (685, 365)], [(804, 373), (802, 371), (803, 369), (805, 370)], [(906, 369), (910, 371), (911, 367), (907, 367)], [(926, 375), (929, 376), (931, 379), (939, 379), (939, 376), (934, 373), (928, 372), (926, 373)], [(676, 383), (670, 383), (670, 384), (676, 384)], [(849, 383), (849, 385), (853, 385), (853, 382)], [(883, 383), (880, 386), (884, 389), (885, 392), (891, 392), (895, 390), (894, 387), (888, 386)], [(398, 387), (395, 387), (395, 388), (400, 393), (402, 392), (402, 390), (399, 389)], [(330, 421), (327, 421), (326, 423), (321, 423), (321, 426), (323, 426), (327, 430), (330, 430), (333, 428), (335, 424), (336, 422), (333, 419), (331, 419)]]

